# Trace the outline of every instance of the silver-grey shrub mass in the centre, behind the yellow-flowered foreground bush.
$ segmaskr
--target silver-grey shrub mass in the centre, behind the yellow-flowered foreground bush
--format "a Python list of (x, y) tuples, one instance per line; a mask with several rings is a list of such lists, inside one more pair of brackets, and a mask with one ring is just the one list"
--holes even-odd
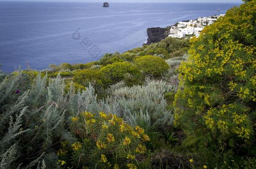
[(102, 111), (111, 112), (125, 118), (131, 125), (161, 129), (172, 123), (172, 112), (167, 110), (165, 93), (175, 91), (165, 81), (150, 81), (142, 86), (112, 86), (111, 95), (100, 102)]

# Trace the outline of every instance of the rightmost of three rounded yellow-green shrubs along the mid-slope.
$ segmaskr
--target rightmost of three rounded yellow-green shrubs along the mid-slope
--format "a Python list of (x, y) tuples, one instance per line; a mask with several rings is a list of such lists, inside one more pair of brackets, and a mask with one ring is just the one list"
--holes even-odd
[(139, 70), (147, 74), (152, 74), (153, 76), (160, 76), (169, 68), (164, 59), (152, 55), (138, 57), (134, 63)]

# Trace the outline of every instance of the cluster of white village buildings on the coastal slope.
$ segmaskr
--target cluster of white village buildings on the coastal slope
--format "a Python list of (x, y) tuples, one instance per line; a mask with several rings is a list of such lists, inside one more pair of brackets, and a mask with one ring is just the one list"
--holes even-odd
[(213, 24), (219, 17), (225, 14), (214, 15), (209, 17), (199, 17), (196, 20), (185, 20), (171, 26), (168, 36), (173, 38), (184, 38), (189, 35), (198, 37), (205, 26)]

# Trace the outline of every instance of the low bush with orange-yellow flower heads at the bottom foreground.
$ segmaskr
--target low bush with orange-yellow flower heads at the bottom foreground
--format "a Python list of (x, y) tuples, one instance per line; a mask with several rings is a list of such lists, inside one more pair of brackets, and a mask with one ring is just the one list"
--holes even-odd
[[(139, 126), (132, 127), (115, 114), (82, 112), (71, 118), (77, 141), (63, 142), (57, 151), (66, 166), (78, 168), (137, 168), (150, 140)], [(64, 144), (65, 143), (65, 144)], [(72, 154), (72, 159), (68, 157)], [(145, 158), (145, 157), (144, 157)]]

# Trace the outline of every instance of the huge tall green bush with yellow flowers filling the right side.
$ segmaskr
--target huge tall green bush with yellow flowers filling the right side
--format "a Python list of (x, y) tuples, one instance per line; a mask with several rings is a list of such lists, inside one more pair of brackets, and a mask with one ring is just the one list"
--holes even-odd
[(256, 0), (228, 10), (191, 39), (180, 66), (175, 126), (187, 135), (183, 149), (211, 167), (256, 158), (255, 20)]

